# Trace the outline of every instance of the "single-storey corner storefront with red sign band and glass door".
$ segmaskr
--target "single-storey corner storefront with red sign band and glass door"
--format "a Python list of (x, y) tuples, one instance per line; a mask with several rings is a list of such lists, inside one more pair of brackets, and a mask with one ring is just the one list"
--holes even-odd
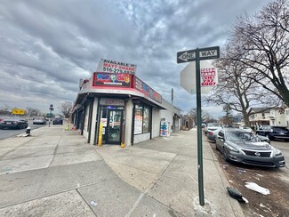
[(93, 145), (133, 145), (160, 134), (161, 119), (179, 131), (181, 110), (128, 73), (94, 72), (80, 82), (72, 122)]

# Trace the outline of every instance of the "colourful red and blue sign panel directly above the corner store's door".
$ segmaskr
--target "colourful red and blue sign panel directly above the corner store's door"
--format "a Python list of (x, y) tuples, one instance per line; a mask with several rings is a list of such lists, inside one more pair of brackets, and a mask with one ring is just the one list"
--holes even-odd
[(129, 74), (96, 72), (94, 75), (94, 85), (131, 86), (132, 76)]

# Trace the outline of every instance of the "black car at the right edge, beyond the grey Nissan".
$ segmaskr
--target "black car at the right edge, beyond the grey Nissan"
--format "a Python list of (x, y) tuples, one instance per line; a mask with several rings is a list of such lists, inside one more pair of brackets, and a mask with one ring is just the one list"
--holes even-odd
[(264, 125), (259, 130), (256, 131), (256, 134), (266, 136), (271, 141), (273, 140), (289, 141), (289, 129), (286, 126)]

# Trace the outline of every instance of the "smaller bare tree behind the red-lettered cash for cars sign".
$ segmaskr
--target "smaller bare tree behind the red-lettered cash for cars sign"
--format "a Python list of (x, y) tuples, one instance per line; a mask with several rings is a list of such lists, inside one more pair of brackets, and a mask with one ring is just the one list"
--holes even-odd
[(204, 101), (242, 113), (245, 125), (250, 126), (249, 116), (253, 114), (253, 107), (276, 107), (279, 100), (262, 90), (252, 78), (244, 76), (248, 67), (243, 62), (231, 60), (230, 52), (227, 47), (223, 56), (214, 62), (219, 68), (219, 84)]

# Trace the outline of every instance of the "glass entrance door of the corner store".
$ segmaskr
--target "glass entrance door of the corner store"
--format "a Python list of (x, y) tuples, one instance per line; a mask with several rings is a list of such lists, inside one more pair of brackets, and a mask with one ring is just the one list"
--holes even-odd
[(124, 110), (108, 109), (107, 144), (120, 144)]

